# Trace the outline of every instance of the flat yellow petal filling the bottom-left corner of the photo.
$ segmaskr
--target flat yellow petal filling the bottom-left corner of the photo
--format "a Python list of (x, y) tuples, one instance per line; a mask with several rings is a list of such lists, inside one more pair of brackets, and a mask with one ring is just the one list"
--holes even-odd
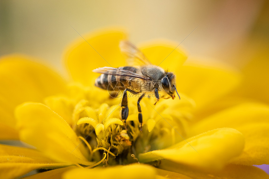
[(17, 178), (38, 168), (56, 168), (63, 164), (43, 164), (43, 163), (0, 163), (0, 178)]

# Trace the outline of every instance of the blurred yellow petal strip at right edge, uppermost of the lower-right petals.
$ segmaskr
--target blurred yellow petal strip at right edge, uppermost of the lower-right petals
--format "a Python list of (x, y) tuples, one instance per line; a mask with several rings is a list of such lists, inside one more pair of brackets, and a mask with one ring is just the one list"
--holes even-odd
[(213, 114), (190, 127), (190, 136), (219, 127), (236, 128), (242, 124), (268, 122), (269, 106), (260, 103), (243, 103)]

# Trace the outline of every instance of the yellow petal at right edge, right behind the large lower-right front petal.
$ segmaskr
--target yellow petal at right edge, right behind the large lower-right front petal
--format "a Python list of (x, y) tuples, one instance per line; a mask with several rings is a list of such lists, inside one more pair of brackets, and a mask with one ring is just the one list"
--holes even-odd
[(252, 123), (237, 128), (245, 137), (244, 151), (231, 162), (240, 165), (269, 164), (269, 122)]

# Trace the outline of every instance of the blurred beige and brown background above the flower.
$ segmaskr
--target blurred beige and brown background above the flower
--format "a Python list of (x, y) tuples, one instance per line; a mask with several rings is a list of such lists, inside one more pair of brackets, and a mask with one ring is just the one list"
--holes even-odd
[[(103, 27), (124, 27), (134, 44), (155, 38), (181, 42), (190, 57), (236, 59), (245, 44), (268, 39), (269, 5), (262, 0), (0, 1), (0, 55), (23, 53), (62, 68), (59, 59), (74, 39)], [(74, 27), (74, 29), (71, 27)], [(268, 42), (268, 40), (267, 40)]]

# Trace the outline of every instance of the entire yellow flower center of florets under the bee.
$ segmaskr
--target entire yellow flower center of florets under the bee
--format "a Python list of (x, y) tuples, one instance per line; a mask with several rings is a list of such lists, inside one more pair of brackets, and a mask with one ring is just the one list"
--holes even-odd
[[(169, 105), (171, 102), (181, 101), (161, 100), (154, 106), (154, 100), (145, 98), (140, 102), (143, 115), (142, 132), (135, 97), (128, 98), (129, 116), (126, 126), (121, 121), (120, 99), (111, 98), (107, 92), (95, 87), (72, 85), (68, 96), (49, 97), (46, 101), (49, 107), (62, 108), (53, 110), (63, 112), (64, 119), (69, 118), (67, 122), (83, 141), (81, 145), (89, 148), (89, 161), (104, 160), (107, 165), (126, 165), (138, 162), (140, 153), (163, 149), (182, 140), (177, 132), (184, 135), (182, 124), (188, 115)], [(59, 103), (62, 105), (56, 105)], [(66, 110), (66, 107), (69, 107), (69, 110)], [(58, 113), (61, 116), (61, 113)]]

